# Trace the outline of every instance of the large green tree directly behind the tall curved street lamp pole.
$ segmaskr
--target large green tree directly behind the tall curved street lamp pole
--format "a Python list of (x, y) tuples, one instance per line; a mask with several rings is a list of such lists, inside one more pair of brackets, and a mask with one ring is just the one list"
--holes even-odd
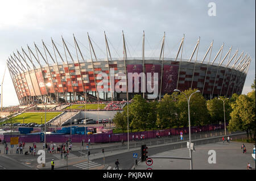
[[(183, 91), (185, 95), (189, 96), (195, 92), (196, 89), (189, 89)], [(179, 110), (179, 121), (184, 127), (188, 126), (188, 102), (185, 95), (179, 94), (177, 96), (177, 107)], [(204, 125), (210, 122), (210, 115), (207, 110), (207, 102), (201, 93), (193, 94), (190, 99), (190, 117), (191, 125)]]

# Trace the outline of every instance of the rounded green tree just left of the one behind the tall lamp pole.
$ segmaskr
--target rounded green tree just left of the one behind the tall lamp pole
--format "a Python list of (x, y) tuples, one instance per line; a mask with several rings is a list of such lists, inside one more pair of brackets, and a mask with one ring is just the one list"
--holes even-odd
[(161, 128), (174, 127), (176, 121), (176, 106), (171, 95), (164, 95), (157, 107), (156, 125)]

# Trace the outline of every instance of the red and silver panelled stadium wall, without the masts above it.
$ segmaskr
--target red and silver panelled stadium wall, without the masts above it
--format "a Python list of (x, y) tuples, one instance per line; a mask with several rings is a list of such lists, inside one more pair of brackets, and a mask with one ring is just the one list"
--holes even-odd
[[(8, 62), (15, 91), (21, 104), (31, 103), (34, 100), (40, 102), (40, 99), (43, 99), (45, 95), (51, 96), (51, 99), (56, 102), (59, 98), (67, 101), (68, 95), (72, 96), (71, 100), (84, 100), (84, 91), (87, 95), (96, 95), (94, 76), (96, 77), (96, 84), (98, 84), (103, 78), (97, 78), (97, 74), (106, 73), (109, 75), (109, 68), (113, 68), (115, 74), (125, 72), (123, 60), (93, 61), (93, 66), (94, 74), (90, 61), (49, 64), (42, 66), (42, 68), (19, 72), (18, 68), (15, 69), (14, 62)], [(143, 72), (142, 60), (127, 60), (126, 66), (127, 73)], [(158, 73), (160, 91), (162, 60), (150, 58), (145, 60), (144, 71), (144, 73)], [(177, 76), (178, 73), (179, 77)], [(171, 94), (176, 88), (183, 91), (192, 87), (192, 89), (199, 89), (208, 99), (220, 95), (230, 97), (233, 93), (241, 94), (245, 78), (245, 71), (230, 67), (164, 58), (161, 93), (163, 96), (166, 93)], [(115, 79), (115, 84), (119, 80)], [(51, 86), (48, 87), (47, 83), (51, 83)], [(110, 82), (108, 85), (110, 92)], [(108, 94), (109, 92), (101, 95), (101, 99), (110, 100), (111, 94)], [(139, 92), (141, 92), (141, 86)], [(126, 93), (117, 94), (115, 92), (114, 100), (125, 99), (125, 95)], [(130, 96), (132, 95), (130, 94)]]

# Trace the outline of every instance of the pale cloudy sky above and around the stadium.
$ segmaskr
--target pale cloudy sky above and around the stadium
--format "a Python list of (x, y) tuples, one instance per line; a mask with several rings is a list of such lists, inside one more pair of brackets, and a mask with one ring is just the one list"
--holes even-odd
[[(210, 2), (216, 16), (209, 16)], [(239, 49), (251, 56), (243, 94), (251, 90), (255, 77), (255, 1), (2, 1), (0, 6), (0, 83), (6, 60), (11, 53), (42, 48), (42, 39), (51, 47), (51, 37), (61, 48), (61, 35), (72, 49), (73, 33), (81, 43), (86, 58), (87, 32), (93, 40), (98, 58), (105, 58), (104, 31), (110, 41), (112, 57), (122, 57), (122, 30), (128, 57), (141, 57), (142, 33), (145, 31), (146, 57), (159, 57), (163, 33), (166, 32), (164, 57), (174, 57), (183, 34), (184, 58), (191, 56), (200, 36), (199, 59), (214, 40), (215, 55), (224, 43), (224, 52), (232, 45), (232, 55)], [(63, 52), (62, 52), (63, 53)], [(75, 55), (75, 52), (73, 52)], [(3, 106), (18, 105), (18, 98), (6, 70), (3, 81)]]

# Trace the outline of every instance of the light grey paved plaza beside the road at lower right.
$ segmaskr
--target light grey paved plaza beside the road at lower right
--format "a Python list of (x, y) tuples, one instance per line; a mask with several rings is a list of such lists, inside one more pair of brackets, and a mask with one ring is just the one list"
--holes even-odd
[[(196, 151), (192, 153), (193, 169), (195, 170), (246, 170), (247, 163), (255, 169), (255, 161), (251, 154), (253, 153), (253, 144), (244, 143), (246, 146), (246, 154), (242, 153), (242, 142), (216, 142), (213, 144), (196, 146)], [(216, 163), (209, 164), (209, 150), (216, 151)], [(152, 157), (189, 157), (187, 148), (165, 151), (159, 154), (150, 155)], [(181, 159), (163, 159), (152, 158), (153, 170), (189, 170), (189, 160)], [(140, 162), (136, 166), (136, 170), (146, 170), (148, 167), (146, 162)]]

